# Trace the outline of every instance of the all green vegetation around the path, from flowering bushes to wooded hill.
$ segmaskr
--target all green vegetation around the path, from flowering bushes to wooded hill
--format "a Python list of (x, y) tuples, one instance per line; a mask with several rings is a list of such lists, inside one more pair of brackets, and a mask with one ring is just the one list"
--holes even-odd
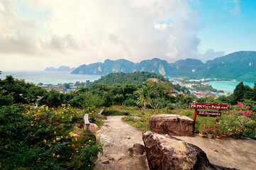
[[(68, 94), (47, 91), (11, 76), (0, 79), (0, 167), (92, 169), (103, 144), (96, 142), (91, 132), (84, 132), (74, 126), (82, 123), (84, 113), (89, 113), (91, 122), (102, 125), (97, 113), (103, 106), (108, 107), (104, 115), (118, 114), (120, 108), (128, 111), (129, 115), (124, 120), (141, 130), (148, 130), (148, 118), (153, 114), (193, 116), (193, 111), (188, 109), (189, 103), (193, 102), (192, 96), (169, 95), (173, 89), (188, 89), (173, 86), (165, 78), (151, 73), (135, 72), (128, 75), (110, 74), (104, 77), (104, 81), (111, 86), (96, 84), (103, 82), (96, 81), (90, 88), (79, 88)], [(120, 80), (113, 79), (114, 76), (120, 77)], [(147, 77), (155, 77), (158, 81), (146, 80)], [(132, 82), (132, 79), (138, 85), (127, 82)], [(244, 86), (241, 81), (233, 95), (197, 98), (197, 102), (233, 105), (230, 111), (223, 112), (219, 118), (219, 125), (223, 125), (219, 132), (255, 137), (255, 88)], [(215, 127), (215, 120), (205, 120), (199, 116), (196, 131), (206, 132), (206, 125)], [(75, 134), (79, 134), (79, 137)]]

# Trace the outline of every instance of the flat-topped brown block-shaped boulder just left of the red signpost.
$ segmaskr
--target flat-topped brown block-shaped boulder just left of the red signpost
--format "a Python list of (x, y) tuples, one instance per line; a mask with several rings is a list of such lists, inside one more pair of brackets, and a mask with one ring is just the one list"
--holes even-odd
[(184, 115), (151, 115), (150, 130), (172, 136), (194, 136), (193, 120)]

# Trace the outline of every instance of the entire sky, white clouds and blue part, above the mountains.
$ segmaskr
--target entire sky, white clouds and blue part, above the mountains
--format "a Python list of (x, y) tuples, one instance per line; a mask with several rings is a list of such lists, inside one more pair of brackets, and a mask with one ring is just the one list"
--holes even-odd
[(0, 0), (0, 70), (256, 51), (255, 0)]

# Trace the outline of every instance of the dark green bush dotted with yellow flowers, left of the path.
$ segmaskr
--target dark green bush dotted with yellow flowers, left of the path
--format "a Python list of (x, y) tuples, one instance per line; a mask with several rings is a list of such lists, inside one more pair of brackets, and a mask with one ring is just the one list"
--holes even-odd
[(83, 162), (84, 169), (91, 169), (102, 145), (89, 132), (74, 136), (72, 128), (82, 122), (82, 115), (81, 110), (65, 105), (58, 109), (1, 106), (1, 168), (74, 169)]

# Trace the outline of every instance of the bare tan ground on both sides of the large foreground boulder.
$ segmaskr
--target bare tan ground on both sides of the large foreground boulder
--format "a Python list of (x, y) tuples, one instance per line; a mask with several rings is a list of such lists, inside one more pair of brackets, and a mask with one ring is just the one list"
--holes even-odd
[[(95, 169), (148, 169), (144, 155), (131, 155), (128, 152), (133, 144), (143, 144), (142, 132), (123, 123), (122, 116), (108, 116), (104, 126), (97, 131), (99, 141), (105, 141), (104, 154), (99, 155)], [(206, 152), (212, 164), (235, 169), (256, 169), (256, 141), (233, 140), (226, 137), (221, 140), (195, 137), (177, 137), (194, 144)]]

